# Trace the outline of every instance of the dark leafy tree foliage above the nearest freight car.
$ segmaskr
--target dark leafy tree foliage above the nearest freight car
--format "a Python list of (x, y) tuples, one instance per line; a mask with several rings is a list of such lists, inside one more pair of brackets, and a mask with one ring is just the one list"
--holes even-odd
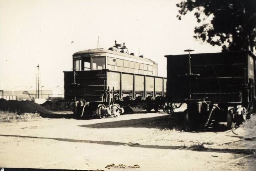
[[(196, 39), (222, 46), (223, 51), (251, 50), (256, 45), (256, 0), (185, 0), (176, 4), (177, 18), (195, 12)], [(211, 22), (206, 22), (210, 16)]]

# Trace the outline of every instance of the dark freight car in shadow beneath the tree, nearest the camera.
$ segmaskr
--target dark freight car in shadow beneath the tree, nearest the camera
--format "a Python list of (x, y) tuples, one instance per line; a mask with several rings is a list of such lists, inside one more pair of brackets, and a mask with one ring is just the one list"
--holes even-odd
[(167, 101), (186, 103), (187, 130), (250, 117), (256, 99), (256, 57), (250, 51), (166, 55)]

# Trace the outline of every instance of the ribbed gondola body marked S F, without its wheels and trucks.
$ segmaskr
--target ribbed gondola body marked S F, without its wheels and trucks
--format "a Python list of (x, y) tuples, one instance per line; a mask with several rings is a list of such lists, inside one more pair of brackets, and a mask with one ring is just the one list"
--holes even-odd
[[(166, 79), (109, 70), (64, 72), (65, 100), (105, 102), (104, 92), (113, 91), (115, 100), (165, 96)], [(76, 80), (76, 86), (74, 85)]]

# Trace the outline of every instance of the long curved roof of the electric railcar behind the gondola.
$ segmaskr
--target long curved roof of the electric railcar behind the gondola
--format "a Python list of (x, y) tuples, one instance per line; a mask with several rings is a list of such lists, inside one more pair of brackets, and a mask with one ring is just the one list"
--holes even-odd
[(108, 50), (108, 49), (88, 49), (88, 50), (76, 52), (76, 53), (74, 53), (74, 55), (86, 54), (86, 53), (108, 53), (108, 54), (115, 54), (115, 55), (125, 56), (125, 57), (134, 58), (134, 59), (138, 59), (138, 60), (142, 60), (142, 61), (153, 62), (153, 63), (157, 64), (156, 62), (154, 62), (154, 61), (152, 61), (150, 59), (147, 59), (147, 58), (141, 58), (141, 57), (129, 55), (129, 54), (126, 54), (126, 53), (116, 52), (116, 51), (112, 51), (112, 50)]

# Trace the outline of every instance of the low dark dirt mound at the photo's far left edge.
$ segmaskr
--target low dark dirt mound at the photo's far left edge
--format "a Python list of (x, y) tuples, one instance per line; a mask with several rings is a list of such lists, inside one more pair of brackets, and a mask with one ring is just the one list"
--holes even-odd
[(22, 113), (41, 113), (41, 114), (51, 114), (43, 106), (34, 103), (33, 101), (17, 101), (17, 100), (5, 100), (0, 99), (0, 110), (16, 112), (17, 114)]

